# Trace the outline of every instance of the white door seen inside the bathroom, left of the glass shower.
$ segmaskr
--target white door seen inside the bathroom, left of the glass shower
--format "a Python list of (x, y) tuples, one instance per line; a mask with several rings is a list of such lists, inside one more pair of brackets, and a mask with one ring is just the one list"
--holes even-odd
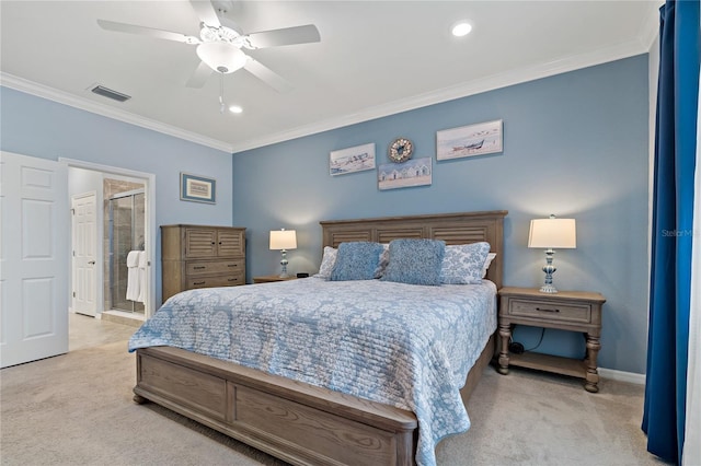
[(71, 197), (73, 311), (95, 316), (97, 313), (95, 283), (97, 258), (97, 211), (94, 193)]

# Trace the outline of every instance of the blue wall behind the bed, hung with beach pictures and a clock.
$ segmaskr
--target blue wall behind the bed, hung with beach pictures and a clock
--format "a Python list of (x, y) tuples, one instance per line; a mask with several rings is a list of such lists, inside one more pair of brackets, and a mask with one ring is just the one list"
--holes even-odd
[[(542, 283), (529, 222), (577, 220), (577, 248), (558, 252), (555, 284), (607, 298), (599, 365), (644, 373), (647, 282), (647, 56), (531, 81), (234, 154), (233, 223), (249, 229), (252, 276), (279, 270), (268, 231), (298, 232), (289, 270), (313, 272), (320, 220), (506, 209), (505, 284)], [(501, 154), (437, 162), (437, 130), (504, 120)], [(329, 175), (329, 152), (397, 137), (433, 158), (433, 185), (380, 191), (377, 172)], [(520, 327), (529, 348), (540, 331)], [(548, 330), (540, 349), (581, 356), (582, 337)]]

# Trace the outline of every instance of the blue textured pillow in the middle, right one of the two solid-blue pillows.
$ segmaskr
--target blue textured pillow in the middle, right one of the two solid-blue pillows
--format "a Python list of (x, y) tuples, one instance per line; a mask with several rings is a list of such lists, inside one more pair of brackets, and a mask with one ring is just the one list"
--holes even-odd
[(445, 251), (445, 241), (394, 240), (390, 243), (390, 263), (381, 280), (440, 286)]

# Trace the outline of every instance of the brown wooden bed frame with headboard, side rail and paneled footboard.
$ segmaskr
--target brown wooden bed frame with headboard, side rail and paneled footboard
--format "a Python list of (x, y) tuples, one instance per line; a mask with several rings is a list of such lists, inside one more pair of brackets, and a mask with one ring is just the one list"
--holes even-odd
[[(506, 211), (321, 222), (323, 246), (348, 241), (389, 243), (436, 238), (487, 241), (496, 258), (487, 278), (502, 287)], [(494, 356), (494, 336), (470, 371), (467, 401)], [(148, 400), (295, 465), (412, 465), (413, 412), (271, 375), (177, 348), (136, 353), (136, 403)]]

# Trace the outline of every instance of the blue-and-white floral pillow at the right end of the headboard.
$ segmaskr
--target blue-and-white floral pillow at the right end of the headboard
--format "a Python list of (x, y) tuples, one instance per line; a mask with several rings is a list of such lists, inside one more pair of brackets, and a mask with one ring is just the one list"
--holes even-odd
[(446, 247), (440, 281), (446, 284), (482, 283), (490, 243), (480, 242)]

